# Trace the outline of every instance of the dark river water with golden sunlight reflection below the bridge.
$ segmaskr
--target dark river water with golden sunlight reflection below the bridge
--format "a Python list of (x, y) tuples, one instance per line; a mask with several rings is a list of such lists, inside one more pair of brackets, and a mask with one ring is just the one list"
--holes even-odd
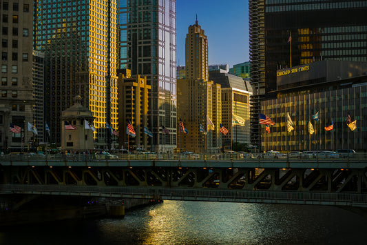
[(123, 219), (4, 228), (0, 244), (367, 244), (366, 231), (333, 206), (165, 201)]

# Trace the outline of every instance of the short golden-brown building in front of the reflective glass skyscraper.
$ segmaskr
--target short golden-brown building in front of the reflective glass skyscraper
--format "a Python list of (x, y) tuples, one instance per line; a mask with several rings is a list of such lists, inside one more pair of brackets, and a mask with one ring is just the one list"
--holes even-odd
[[(148, 98), (151, 86), (147, 77), (131, 77), (129, 69), (118, 72), (118, 148), (129, 147), (129, 151), (151, 150), (151, 137), (144, 133), (148, 125)], [(127, 137), (126, 127), (129, 120), (136, 137)], [(129, 141), (129, 146), (125, 142)]]

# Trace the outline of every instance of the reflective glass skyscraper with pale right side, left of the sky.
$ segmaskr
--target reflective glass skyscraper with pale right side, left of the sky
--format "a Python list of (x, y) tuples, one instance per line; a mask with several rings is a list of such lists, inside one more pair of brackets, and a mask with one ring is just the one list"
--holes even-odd
[[(118, 20), (119, 68), (132, 70), (132, 76), (146, 76), (151, 86), (152, 150), (172, 151), (177, 123), (176, 0), (120, 0)], [(171, 133), (162, 133), (162, 126)]]

